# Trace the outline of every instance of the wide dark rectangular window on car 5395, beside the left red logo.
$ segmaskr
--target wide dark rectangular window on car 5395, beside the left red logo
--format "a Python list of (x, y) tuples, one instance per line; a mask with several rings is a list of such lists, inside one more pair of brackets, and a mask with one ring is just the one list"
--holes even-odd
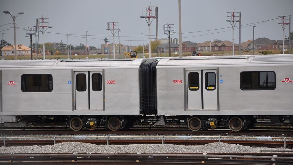
[(53, 78), (51, 74), (21, 75), (21, 90), (23, 92), (51, 92)]

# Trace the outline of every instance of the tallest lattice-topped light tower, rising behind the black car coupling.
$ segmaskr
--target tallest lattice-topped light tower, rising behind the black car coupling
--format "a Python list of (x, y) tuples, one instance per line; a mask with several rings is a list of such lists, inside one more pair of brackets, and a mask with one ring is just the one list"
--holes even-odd
[[(148, 18), (146, 19), (146, 23), (149, 26), (149, 58), (151, 58), (151, 23), (153, 22), (154, 19), (157, 19), (157, 9), (158, 7), (155, 6), (146, 6), (142, 7), (142, 15), (140, 18)], [(157, 40), (158, 43), (158, 40)], [(158, 53), (158, 50), (157, 50)]]

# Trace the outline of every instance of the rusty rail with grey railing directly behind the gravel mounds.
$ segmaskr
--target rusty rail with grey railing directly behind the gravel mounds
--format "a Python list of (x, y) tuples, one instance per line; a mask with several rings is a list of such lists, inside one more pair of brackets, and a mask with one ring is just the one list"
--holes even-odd
[[(139, 139), (143, 138), (143, 139)], [(204, 138), (204, 139), (203, 139)], [(233, 140), (227, 140), (230, 138)], [(83, 142), (91, 144), (175, 144), (203, 145), (213, 142), (241, 144), (244, 146), (293, 148), (293, 138), (261, 139), (255, 137), (203, 137), (203, 136), (66, 136), (66, 137), (7, 137), (1, 138), (1, 146), (54, 145), (62, 142)]]

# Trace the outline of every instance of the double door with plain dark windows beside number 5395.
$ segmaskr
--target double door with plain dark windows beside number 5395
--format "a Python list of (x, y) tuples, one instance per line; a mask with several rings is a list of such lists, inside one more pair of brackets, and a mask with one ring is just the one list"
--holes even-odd
[(75, 72), (75, 109), (103, 110), (102, 72)]

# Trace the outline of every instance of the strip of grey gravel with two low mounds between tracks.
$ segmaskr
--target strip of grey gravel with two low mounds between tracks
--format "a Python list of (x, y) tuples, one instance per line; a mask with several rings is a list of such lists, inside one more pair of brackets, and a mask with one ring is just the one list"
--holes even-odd
[[(284, 148), (250, 147), (222, 142), (198, 146), (173, 144), (95, 145), (81, 142), (63, 142), (52, 146), (0, 147), (0, 153), (259, 153), (261, 150)], [(282, 152), (280, 152), (282, 153)]]

